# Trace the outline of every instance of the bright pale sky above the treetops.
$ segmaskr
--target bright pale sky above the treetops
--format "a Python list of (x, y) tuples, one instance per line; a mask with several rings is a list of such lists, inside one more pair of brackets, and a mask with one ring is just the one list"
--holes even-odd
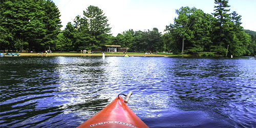
[[(99, 7), (109, 19), (111, 33), (118, 33), (133, 29), (146, 31), (158, 28), (164, 32), (165, 26), (174, 23), (178, 16), (176, 9), (181, 7), (196, 7), (204, 13), (214, 12), (214, 0), (53, 0), (60, 11), (61, 29), (65, 29), (68, 22), (73, 23), (75, 16), (82, 17), (83, 11), (90, 6)], [(236, 11), (242, 16), (242, 27), (256, 31), (256, 0), (229, 0), (230, 13)]]

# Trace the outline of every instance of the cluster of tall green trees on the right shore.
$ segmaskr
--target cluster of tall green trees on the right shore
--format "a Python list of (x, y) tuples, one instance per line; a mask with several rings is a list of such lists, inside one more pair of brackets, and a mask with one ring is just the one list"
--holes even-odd
[(245, 33), (241, 15), (229, 13), (226, 0), (215, 0), (215, 12), (182, 7), (176, 10), (174, 24), (166, 26), (163, 35), (168, 49), (174, 53), (215, 52), (221, 55), (255, 55), (255, 39)]

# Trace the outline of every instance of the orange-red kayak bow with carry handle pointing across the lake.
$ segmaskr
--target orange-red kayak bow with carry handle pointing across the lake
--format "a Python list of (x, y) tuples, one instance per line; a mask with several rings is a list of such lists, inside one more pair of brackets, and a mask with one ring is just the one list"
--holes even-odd
[(119, 95), (103, 110), (77, 127), (148, 127), (125, 104), (128, 102), (132, 92), (129, 92), (127, 96), (125, 95), (125, 100)]

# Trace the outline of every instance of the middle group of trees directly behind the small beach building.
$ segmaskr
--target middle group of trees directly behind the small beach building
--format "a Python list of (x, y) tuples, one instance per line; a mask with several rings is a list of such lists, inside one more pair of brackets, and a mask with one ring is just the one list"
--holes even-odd
[(77, 15), (72, 24), (59, 33), (57, 49), (60, 51), (80, 51), (100, 49), (104, 45), (120, 45), (129, 51), (163, 51), (162, 35), (157, 28), (147, 31), (132, 29), (119, 33), (116, 37), (109, 34), (111, 28), (108, 18), (101, 9), (89, 6), (83, 16)]

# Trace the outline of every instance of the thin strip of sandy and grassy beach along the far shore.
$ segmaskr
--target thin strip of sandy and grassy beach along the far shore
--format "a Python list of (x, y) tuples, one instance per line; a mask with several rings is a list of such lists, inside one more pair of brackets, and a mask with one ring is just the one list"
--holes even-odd
[[(84, 53), (77, 53), (77, 52), (53, 52), (49, 53), (46, 55), (46, 53), (42, 54), (41, 53), (19, 53), (21, 56), (102, 56), (102, 53), (92, 53), (92, 54), (84, 54)], [(174, 55), (170, 53), (157, 53), (157, 54), (145, 54), (145, 53), (138, 53), (138, 52), (128, 52), (127, 53), (129, 56), (165, 56), (165, 57), (200, 57), (200, 56), (208, 56), (209, 53), (198, 53), (198, 54), (179, 54), (179, 55)], [(213, 53), (209, 54), (210, 56), (217, 56)], [(114, 52), (113, 54), (111, 52), (106, 52), (105, 56), (124, 56), (123, 53), (121, 52)]]

